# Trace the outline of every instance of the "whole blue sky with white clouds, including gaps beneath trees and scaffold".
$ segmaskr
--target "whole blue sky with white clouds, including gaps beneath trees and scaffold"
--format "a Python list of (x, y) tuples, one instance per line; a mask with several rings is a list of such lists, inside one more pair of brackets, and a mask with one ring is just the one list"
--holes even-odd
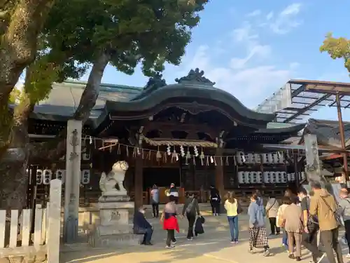
[[(288, 79), (349, 81), (342, 60), (319, 52), (327, 32), (349, 37), (350, 1), (211, 0), (178, 67), (167, 65), (167, 83), (199, 67), (205, 76), (254, 108)], [(87, 75), (83, 77), (87, 79)], [(109, 66), (102, 82), (144, 86), (137, 69), (127, 76)], [(349, 112), (343, 111), (350, 121)], [(323, 107), (311, 117), (337, 119), (335, 108)]]

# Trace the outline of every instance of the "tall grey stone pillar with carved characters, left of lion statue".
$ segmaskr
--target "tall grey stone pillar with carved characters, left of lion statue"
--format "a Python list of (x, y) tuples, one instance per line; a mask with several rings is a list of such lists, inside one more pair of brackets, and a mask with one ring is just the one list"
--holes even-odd
[(66, 135), (66, 177), (64, 189), (64, 242), (78, 236), (82, 122), (69, 120)]

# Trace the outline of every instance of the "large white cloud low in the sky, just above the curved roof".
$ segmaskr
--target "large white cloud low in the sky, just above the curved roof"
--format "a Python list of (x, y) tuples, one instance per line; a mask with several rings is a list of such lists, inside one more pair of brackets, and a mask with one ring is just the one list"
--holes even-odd
[[(250, 50), (246, 58), (231, 58), (226, 63), (221, 62), (218, 67), (211, 57), (210, 50), (209, 46), (200, 46), (192, 58), (187, 57), (183, 61), (182, 65), (186, 66), (181, 68), (181, 72), (172, 74), (182, 76), (186, 75), (189, 69), (200, 67), (208, 79), (216, 82), (216, 87), (235, 95), (244, 105), (251, 108), (286, 83), (293, 75), (291, 67), (293, 63), (281, 69), (270, 64), (258, 66), (255, 64), (257, 58), (271, 53), (269, 46), (256, 46)], [(248, 65), (248, 60), (251, 65)]]

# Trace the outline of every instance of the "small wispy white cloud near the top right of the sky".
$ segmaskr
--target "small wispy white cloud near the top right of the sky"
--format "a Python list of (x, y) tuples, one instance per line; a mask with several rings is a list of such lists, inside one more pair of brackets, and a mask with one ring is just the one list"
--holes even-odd
[[(276, 34), (286, 34), (291, 29), (298, 27), (302, 24), (300, 20), (297, 20), (297, 15), (300, 13), (301, 4), (290, 4), (279, 13), (276, 18), (269, 23), (269, 27)], [(269, 20), (271, 20), (269, 18)]]

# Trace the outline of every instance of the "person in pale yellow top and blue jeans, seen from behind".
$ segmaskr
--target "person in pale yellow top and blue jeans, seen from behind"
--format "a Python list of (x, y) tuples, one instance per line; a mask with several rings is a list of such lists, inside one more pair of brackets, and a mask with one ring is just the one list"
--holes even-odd
[(226, 196), (225, 201), (225, 209), (227, 211), (228, 215), (228, 224), (230, 226), (230, 234), (231, 234), (231, 243), (237, 244), (238, 243), (238, 200), (235, 197), (235, 192), (230, 191), (228, 192)]

